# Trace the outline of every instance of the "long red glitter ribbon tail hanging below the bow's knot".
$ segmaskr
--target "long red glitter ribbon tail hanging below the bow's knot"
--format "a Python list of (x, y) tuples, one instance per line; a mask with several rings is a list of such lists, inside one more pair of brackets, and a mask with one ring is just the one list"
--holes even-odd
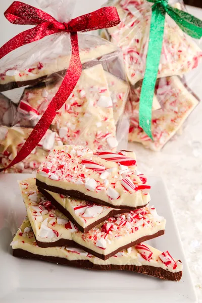
[(51, 103), (49, 103), (45, 113), (42, 115), (41, 119), (38, 121), (31, 134), (27, 138), (26, 142), (20, 149), (17, 156), (14, 160), (1, 171), (6, 170), (13, 165), (23, 161), (31, 151), (36, 147), (42, 137), (45, 135), (48, 127), (51, 125), (53, 119), (56, 116), (56, 112), (63, 106), (63, 104), (68, 99), (69, 95), (73, 91), (76, 86), (81, 72), (82, 65), (79, 57), (79, 45), (78, 45), (78, 36), (77, 33), (71, 33), (71, 45), (72, 45), (72, 56), (70, 59), (69, 68), (66, 72), (66, 75), (61, 83), (61, 86), (56, 93), (55, 97), (52, 99)]

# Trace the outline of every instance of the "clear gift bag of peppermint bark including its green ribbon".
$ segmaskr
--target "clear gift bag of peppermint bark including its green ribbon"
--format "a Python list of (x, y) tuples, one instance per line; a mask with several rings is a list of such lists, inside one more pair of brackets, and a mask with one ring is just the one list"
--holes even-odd
[(123, 51), (130, 82), (126, 112), (129, 141), (160, 150), (181, 128), (198, 103), (184, 81), (202, 52), (202, 22), (182, 1), (110, 1), (121, 23), (100, 35)]

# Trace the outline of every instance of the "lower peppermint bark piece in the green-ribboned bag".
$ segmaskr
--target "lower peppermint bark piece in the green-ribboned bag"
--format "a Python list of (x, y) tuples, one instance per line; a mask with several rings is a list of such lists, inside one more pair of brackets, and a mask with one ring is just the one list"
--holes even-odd
[(154, 141), (145, 134), (139, 127), (137, 102), (126, 106), (126, 112), (130, 116), (130, 132), (128, 139), (133, 142), (140, 142), (145, 147), (155, 151), (161, 148), (176, 134), (189, 114), (198, 104), (198, 100), (185, 87), (177, 76), (161, 78), (157, 81), (156, 95), (161, 109), (153, 111), (151, 120), (151, 131)]

